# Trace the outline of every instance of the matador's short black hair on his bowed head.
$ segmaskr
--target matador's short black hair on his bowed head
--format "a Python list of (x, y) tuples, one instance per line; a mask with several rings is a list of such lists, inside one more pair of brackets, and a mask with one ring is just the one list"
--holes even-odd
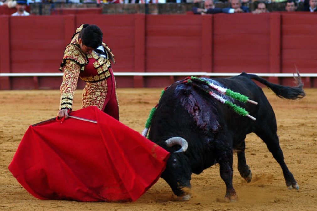
[(102, 43), (102, 32), (96, 25), (85, 24), (79, 33), (83, 45), (96, 49)]

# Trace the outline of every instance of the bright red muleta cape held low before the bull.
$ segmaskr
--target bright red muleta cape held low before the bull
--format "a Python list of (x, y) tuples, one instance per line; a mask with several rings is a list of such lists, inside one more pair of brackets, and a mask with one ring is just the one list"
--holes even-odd
[(32, 125), (9, 170), (39, 199), (135, 201), (160, 177), (169, 152), (97, 107)]

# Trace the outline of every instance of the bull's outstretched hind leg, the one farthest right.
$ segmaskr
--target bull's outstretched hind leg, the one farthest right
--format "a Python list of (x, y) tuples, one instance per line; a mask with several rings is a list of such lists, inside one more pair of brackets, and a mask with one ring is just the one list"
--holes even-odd
[(288, 189), (299, 189), (297, 182), (293, 176), (293, 174), (288, 170), (288, 167), (285, 164), (284, 156), (282, 149), (279, 144), (279, 138), (276, 133), (271, 133), (269, 131), (265, 131), (262, 133), (256, 133), (266, 144), (268, 150), (272, 153), (275, 160), (280, 164), (286, 185)]

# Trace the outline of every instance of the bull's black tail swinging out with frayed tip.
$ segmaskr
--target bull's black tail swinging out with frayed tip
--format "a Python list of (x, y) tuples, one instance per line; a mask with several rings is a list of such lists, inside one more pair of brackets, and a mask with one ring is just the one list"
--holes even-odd
[(255, 74), (248, 74), (243, 72), (240, 74), (240, 76), (247, 77), (250, 79), (254, 79), (264, 85), (266, 85), (268, 88), (270, 88), (276, 96), (285, 98), (285, 99), (290, 99), (290, 100), (296, 100), (299, 98), (303, 98), (306, 96), (304, 90), (303, 90), (303, 83), (301, 81), (301, 76), (299, 72), (297, 71), (297, 76), (295, 78), (296, 80), (296, 86), (295, 87), (290, 87), (290, 86), (282, 86), (279, 84), (273, 84), (265, 80), (264, 78), (261, 78)]

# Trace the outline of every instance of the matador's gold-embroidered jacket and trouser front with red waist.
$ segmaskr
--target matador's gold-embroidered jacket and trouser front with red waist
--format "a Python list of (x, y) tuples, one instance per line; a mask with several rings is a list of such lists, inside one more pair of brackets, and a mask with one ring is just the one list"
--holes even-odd
[[(112, 72), (109, 71), (111, 62), (114, 61), (113, 53), (105, 43), (102, 43), (102, 51), (107, 54), (101, 55), (93, 51), (86, 55), (82, 52), (79, 42), (78, 34), (84, 25), (76, 29), (72, 37), (72, 41), (65, 48), (63, 60), (59, 68), (64, 71), (63, 82), (60, 87), (61, 98), (59, 109), (72, 109), (74, 91), (77, 87), (78, 78), (86, 82), (83, 91), (82, 108), (88, 106), (97, 106), (102, 109), (104, 106), (108, 77), (113, 77)], [(109, 84), (110, 85), (110, 84)]]

